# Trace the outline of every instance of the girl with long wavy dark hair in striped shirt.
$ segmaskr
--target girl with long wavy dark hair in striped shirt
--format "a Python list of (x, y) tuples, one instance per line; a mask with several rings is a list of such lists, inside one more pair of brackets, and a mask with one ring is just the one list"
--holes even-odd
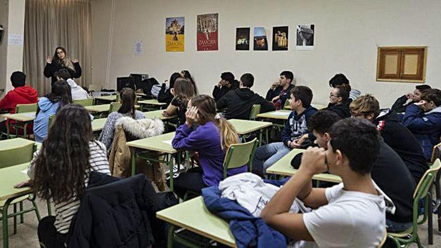
[(89, 173), (110, 175), (106, 147), (92, 140), (89, 113), (78, 104), (69, 104), (57, 114), (42, 148), (34, 153), (28, 168), (31, 180), (16, 187), (33, 185), (37, 195), (55, 204), (55, 216), (40, 220), (38, 237), (45, 247), (65, 246), (78, 197), (87, 187)]

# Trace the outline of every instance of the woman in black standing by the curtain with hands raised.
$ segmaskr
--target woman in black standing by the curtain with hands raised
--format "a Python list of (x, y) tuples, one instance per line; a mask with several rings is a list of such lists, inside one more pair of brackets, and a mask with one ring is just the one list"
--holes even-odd
[(44, 74), (45, 77), (52, 78), (51, 85), (57, 82), (57, 77), (55, 76), (55, 73), (61, 69), (67, 69), (72, 79), (81, 77), (81, 67), (78, 60), (70, 60), (67, 57), (66, 49), (58, 47), (55, 49), (54, 57), (51, 58), (50, 56), (48, 56), (48, 58), (46, 59)]

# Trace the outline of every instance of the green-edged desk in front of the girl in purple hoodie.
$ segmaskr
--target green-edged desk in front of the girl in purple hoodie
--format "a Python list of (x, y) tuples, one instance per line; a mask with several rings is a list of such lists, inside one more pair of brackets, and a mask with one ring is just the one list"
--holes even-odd
[[(141, 157), (142, 159), (145, 159), (147, 161), (152, 162), (159, 162), (159, 163), (165, 163), (168, 164), (170, 167), (170, 190), (173, 191), (173, 158), (176, 162), (176, 164), (180, 164), (180, 152), (175, 150), (171, 146), (171, 140), (174, 137), (174, 132), (161, 134), (158, 136), (153, 136), (149, 138), (144, 139), (138, 139), (134, 141), (127, 142), (126, 144), (130, 147), (130, 152), (132, 155), (132, 175), (135, 175), (136, 172), (136, 157)], [(145, 156), (145, 154), (137, 153), (137, 150), (147, 150), (147, 151), (153, 151), (153, 152), (160, 152), (160, 153), (167, 153), (172, 156), (168, 161), (161, 160), (161, 159), (155, 159), (148, 156)]]

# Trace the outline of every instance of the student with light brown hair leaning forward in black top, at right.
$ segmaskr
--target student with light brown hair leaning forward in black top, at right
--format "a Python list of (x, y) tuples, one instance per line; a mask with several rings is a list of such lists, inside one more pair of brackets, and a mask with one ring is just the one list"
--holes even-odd
[(355, 99), (350, 108), (352, 116), (367, 119), (377, 126), (384, 142), (398, 153), (418, 184), (429, 166), (418, 140), (399, 122), (397, 114), (388, 109), (381, 111), (380, 103), (369, 94)]

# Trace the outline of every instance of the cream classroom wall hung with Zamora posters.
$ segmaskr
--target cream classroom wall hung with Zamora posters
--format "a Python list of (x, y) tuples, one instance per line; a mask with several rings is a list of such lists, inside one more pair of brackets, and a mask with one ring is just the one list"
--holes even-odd
[[(428, 46), (426, 82), (441, 88), (439, 0), (114, 0), (109, 13), (112, 3), (92, 2), (93, 30), (103, 34), (92, 41), (99, 48), (93, 57), (103, 62), (110, 56), (109, 64), (103, 62), (108, 69), (104, 74), (104, 65), (94, 64), (93, 80), (110, 88), (116, 87), (116, 77), (129, 73), (146, 72), (162, 81), (187, 69), (201, 93), (210, 94), (220, 73), (231, 71), (237, 78), (253, 73), (253, 89), (265, 94), (281, 71), (291, 70), (297, 84), (313, 89), (313, 102), (326, 103), (328, 81), (341, 72), (353, 88), (373, 93), (382, 107), (389, 107), (416, 85), (375, 81), (377, 46), (396, 45)], [(197, 52), (196, 15), (208, 13), (219, 14), (219, 50)], [(179, 16), (185, 17), (185, 52), (166, 53), (165, 17)], [(298, 24), (315, 24), (313, 51), (295, 51)], [(253, 27), (265, 27), (271, 44), (272, 27), (286, 25), (289, 51), (235, 51), (237, 27), (251, 27), (252, 32)], [(142, 41), (142, 55), (135, 55), (137, 40)]]

